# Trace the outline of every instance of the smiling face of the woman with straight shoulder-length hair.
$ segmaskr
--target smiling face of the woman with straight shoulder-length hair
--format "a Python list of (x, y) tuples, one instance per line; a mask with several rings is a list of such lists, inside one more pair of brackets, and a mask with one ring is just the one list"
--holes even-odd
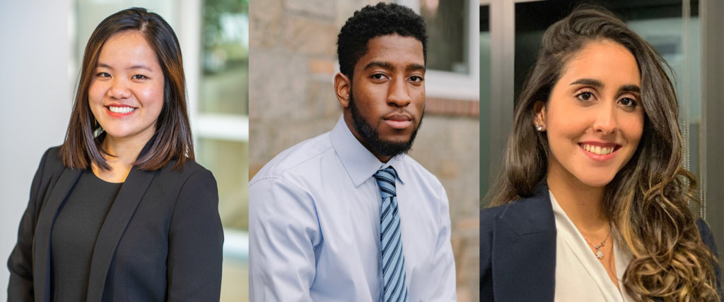
[(104, 43), (88, 87), (88, 103), (108, 137), (153, 136), (164, 104), (164, 73), (141, 33), (117, 33)]

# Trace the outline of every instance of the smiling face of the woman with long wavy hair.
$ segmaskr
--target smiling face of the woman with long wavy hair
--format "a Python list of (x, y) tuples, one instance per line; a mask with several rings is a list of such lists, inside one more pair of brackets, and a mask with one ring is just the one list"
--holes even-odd
[[(611, 40), (581, 48), (564, 66), (536, 124), (548, 137), (548, 178), (606, 186), (641, 140), (641, 76), (628, 49)], [(533, 126), (533, 125), (531, 125)]]

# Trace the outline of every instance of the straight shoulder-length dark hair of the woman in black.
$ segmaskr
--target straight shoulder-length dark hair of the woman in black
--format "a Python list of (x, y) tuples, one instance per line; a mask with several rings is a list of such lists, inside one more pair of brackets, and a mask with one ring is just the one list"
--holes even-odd
[(159, 14), (133, 7), (111, 14), (93, 30), (83, 55), (75, 102), (65, 141), (60, 149), (63, 165), (86, 169), (90, 163), (108, 170), (101, 147), (106, 134), (96, 123), (88, 105), (88, 87), (93, 79), (98, 56), (111, 36), (128, 30), (138, 31), (156, 52), (164, 73), (164, 105), (156, 121), (156, 132), (139, 155), (134, 166), (144, 171), (156, 171), (176, 160), (180, 170), (188, 160), (194, 160), (193, 139), (186, 109), (186, 84), (181, 48), (171, 26)]

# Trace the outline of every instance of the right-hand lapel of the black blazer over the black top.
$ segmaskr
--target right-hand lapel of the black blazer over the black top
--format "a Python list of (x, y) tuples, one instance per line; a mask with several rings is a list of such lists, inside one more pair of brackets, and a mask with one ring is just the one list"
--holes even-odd
[(98, 232), (96, 246), (93, 247), (86, 301), (101, 301), (103, 298), (106, 276), (118, 242), (156, 173), (157, 171), (140, 171), (135, 167), (128, 173)]

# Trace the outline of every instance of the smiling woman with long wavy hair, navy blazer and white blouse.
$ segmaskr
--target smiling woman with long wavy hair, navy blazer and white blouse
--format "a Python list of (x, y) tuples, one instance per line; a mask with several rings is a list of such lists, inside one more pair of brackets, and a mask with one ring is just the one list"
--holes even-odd
[(665, 61), (605, 9), (549, 27), (480, 213), (481, 301), (719, 301)]

